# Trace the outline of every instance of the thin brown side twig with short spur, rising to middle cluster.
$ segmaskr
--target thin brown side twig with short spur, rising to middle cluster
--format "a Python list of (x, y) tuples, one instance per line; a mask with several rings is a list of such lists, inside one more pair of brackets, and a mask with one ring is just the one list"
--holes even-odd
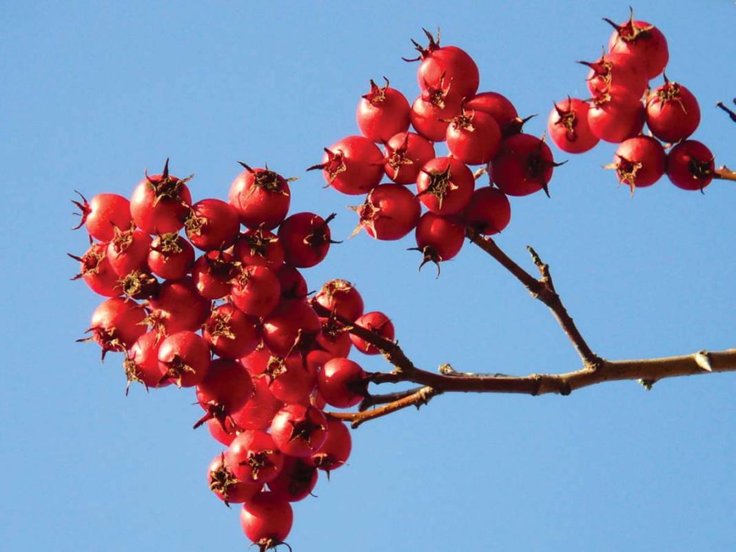
[(526, 289), (529, 290), (529, 293), (531, 293), (532, 297), (537, 297), (538, 300), (542, 301), (550, 308), (557, 322), (562, 327), (562, 330), (565, 330), (567, 337), (570, 338), (570, 341), (573, 343), (575, 350), (578, 352), (578, 355), (580, 355), (580, 358), (586, 367), (595, 369), (595, 367), (601, 364), (601, 358), (593, 353), (592, 349), (580, 333), (580, 330), (578, 330), (575, 325), (572, 316), (567, 313), (565, 305), (562, 304), (562, 300), (556, 293), (554, 284), (552, 283), (549, 266), (542, 262), (542, 259), (539, 258), (539, 255), (537, 255), (537, 252), (534, 251), (534, 249), (527, 247), (531, 254), (532, 261), (534, 261), (534, 264), (537, 265), (537, 269), (539, 269), (539, 280), (531, 276), (526, 272), (526, 270), (521, 268), (521, 266), (512, 261), (512, 259), (509, 258), (509, 256), (506, 255), (506, 253), (504, 253), (491, 238), (484, 238), (471, 228), (467, 229), (466, 235), (473, 244), (491, 255), (492, 258), (495, 258), (501, 266), (511, 272), (517, 280), (523, 283)]

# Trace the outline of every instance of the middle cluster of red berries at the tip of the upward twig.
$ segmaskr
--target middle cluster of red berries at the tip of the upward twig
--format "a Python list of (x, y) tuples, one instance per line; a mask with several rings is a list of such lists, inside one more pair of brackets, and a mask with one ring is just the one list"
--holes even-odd
[[(478, 66), (467, 52), (425, 34), (428, 46), (414, 42), (420, 55), (407, 60), (421, 61), (417, 99), (409, 105), (388, 79), (383, 86), (371, 81), (356, 113), (362, 135), (325, 148), (322, 163), (310, 169), (322, 169), (343, 194), (367, 194), (353, 208), (356, 233), (364, 228), (373, 238), (397, 240), (415, 230), (422, 264), (434, 261), (439, 269), (457, 255), (467, 227), (487, 236), (509, 224), (507, 196), (548, 192), (556, 163), (542, 139), (522, 132), (526, 119), (509, 99), (478, 93)], [(436, 155), (439, 142), (448, 155)], [(487, 166), (490, 185), (476, 189), (469, 166)], [(382, 184), (384, 176), (392, 183)], [(408, 187), (414, 185), (416, 193)]]

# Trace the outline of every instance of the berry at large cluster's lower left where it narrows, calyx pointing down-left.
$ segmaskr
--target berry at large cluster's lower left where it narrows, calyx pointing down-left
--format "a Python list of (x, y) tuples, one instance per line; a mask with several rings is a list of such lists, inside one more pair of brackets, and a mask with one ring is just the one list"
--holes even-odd
[(210, 362), (205, 379), (197, 385), (197, 402), (207, 414), (194, 427), (214, 418), (227, 428), (225, 420), (243, 408), (252, 394), (250, 374), (239, 362), (215, 358)]

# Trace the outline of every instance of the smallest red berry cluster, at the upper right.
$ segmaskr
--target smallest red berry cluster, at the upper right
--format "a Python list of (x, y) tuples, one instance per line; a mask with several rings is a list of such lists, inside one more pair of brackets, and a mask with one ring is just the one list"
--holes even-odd
[[(649, 80), (663, 74), (669, 61), (667, 40), (656, 26), (634, 20), (615, 24), (608, 53), (590, 68), (587, 85), (592, 99), (568, 98), (556, 103), (548, 119), (548, 132), (559, 149), (582, 153), (599, 140), (620, 144), (614, 162), (620, 183), (644, 188), (667, 174), (684, 190), (702, 190), (713, 178), (715, 163), (710, 149), (688, 140), (700, 123), (700, 107), (693, 93), (666, 75), (661, 86), (650, 90)], [(641, 132), (644, 124), (651, 135)], [(665, 152), (671, 149), (669, 153)]]

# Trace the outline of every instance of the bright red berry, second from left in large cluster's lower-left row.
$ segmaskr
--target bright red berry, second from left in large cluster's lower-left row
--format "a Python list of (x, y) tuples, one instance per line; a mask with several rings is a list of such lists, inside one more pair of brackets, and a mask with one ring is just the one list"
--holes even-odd
[(158, 347), (158, 365), (165, 378), (177, 386), (194, 387), (204, 381), (210, 368), (210, 347), (197, 333), (172, 333)]

